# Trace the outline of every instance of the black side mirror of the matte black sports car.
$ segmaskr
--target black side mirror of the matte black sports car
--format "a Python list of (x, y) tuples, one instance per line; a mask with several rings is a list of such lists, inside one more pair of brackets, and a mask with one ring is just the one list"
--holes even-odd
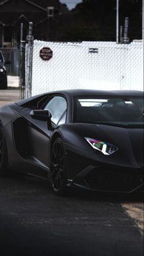
[(32, 119), (37, 119), (41, 121), (47, 121), (48, 122), (48, 129), (51, 128), (51, 113), (48, 110), (39, 110), (39, 109), (34, 109), (30, 113)]

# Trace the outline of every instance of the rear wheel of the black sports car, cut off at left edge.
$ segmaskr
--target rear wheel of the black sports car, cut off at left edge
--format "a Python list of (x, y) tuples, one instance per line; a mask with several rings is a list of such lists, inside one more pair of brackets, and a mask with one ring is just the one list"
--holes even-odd
[(5, 145), (4, 133), (0, 122), (0, 176), (4, 177), (7, 171), (7, 150)]

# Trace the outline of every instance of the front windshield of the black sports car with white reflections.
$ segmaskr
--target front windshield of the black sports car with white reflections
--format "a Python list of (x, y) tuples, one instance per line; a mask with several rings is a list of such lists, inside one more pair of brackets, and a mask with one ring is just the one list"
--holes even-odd
[(74, 97), (74, 123), (143, 124), (143, 97)]

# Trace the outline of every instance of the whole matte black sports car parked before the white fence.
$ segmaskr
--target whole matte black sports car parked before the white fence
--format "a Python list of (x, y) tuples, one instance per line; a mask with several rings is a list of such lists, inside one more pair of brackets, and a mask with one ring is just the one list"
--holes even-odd
[(0, 108), (0, 173), (114, 192), (143, 189), (143, 92), (62, 90)]

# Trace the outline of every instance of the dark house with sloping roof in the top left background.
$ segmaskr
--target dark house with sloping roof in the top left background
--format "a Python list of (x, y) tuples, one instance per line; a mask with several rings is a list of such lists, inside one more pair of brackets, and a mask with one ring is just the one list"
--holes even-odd
[(57, 41), (60, 26), (70, 11), (59, 0), (1, 0), (0, 47), (16, 47), (20, 43), (20, 26), (26, 38), (29, 22), (33, 22), (34, 38)]

